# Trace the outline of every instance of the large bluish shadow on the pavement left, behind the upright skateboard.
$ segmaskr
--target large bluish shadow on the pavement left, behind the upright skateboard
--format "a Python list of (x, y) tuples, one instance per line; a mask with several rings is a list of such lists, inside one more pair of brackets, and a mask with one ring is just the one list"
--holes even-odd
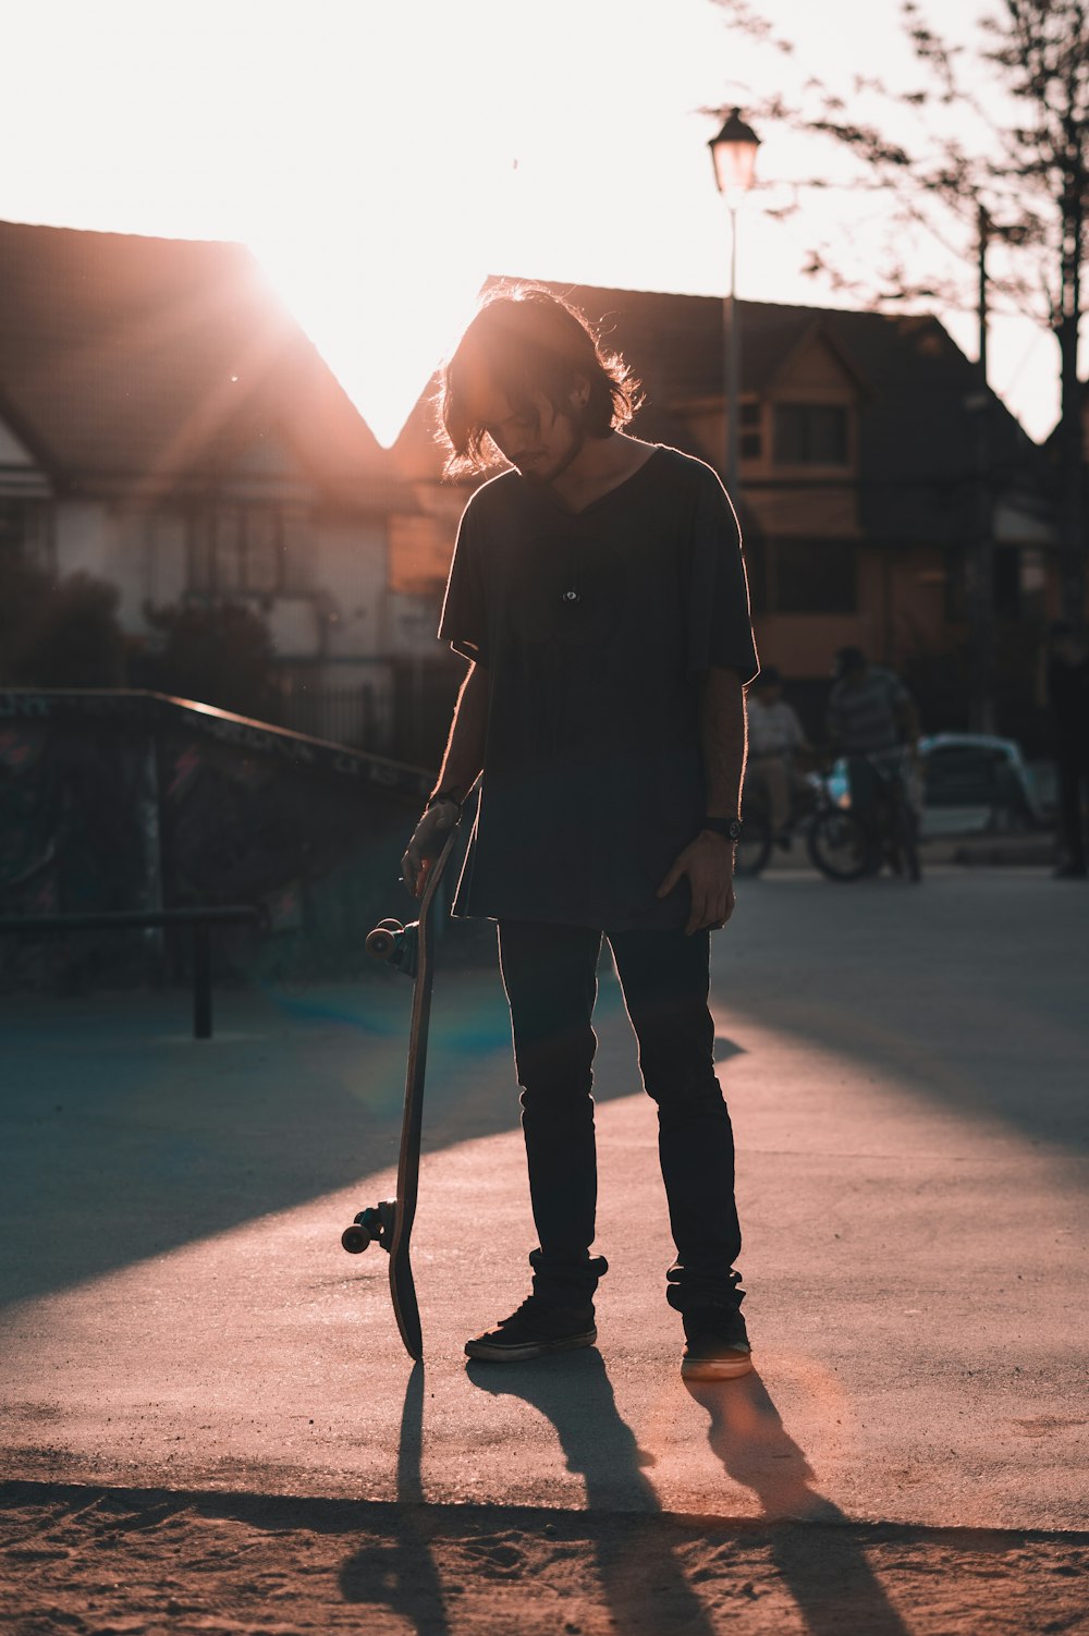
[[(424, 1150), (517, 1129), (495, 962), (440, 970)], [(394, 1166), (412, 985), (224, 991), (190, 1037), (183, 991), (5, 1003), (0, 1306), (70, 1288)], [(623, 1027), (615, 982), (597, 1022)], [(639, 1088), (634, 1044), (623, 1080)], [(366, 1202), (366, 1199), (361, 1199)], [(343, 1222), (330, 1224), (330, 1243)], [(340, 1252), (337, 1252), (340, 1253)]]

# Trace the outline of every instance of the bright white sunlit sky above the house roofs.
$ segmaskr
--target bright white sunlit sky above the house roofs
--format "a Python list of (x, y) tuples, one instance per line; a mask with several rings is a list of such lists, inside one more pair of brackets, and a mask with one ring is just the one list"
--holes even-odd
[[(932, 15), (968, 38), (984, 3)], [(896, 0), (764, 10), (791, 57), (713, 0), (10, 5), (0, 218), (247, 242), (391, 443), (487, 273), (724, 294), (718, 121), (700, 110), (790, 97), (809, 74), (921, 79)], [(806, 250), (831, 244), (867, 276), (890, 201), (785, 124), (759, 134), (737, 294), (849, 304), (803, 276)], [(814, 167), (834, 185), (796, 195)], [(911, 249), (921, 268), (940, 254), (924, 236)], [(937, 311), (975, 357), (971, 312)], [(1055, 340), (1011, 314), (989, 350), (991, 384), (1045, 437)]]

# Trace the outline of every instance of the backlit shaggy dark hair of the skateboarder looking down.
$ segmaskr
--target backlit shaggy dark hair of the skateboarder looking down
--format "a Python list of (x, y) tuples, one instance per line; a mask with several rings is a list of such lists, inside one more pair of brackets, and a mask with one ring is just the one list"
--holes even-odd
[[(587, 437), (626, 425), (643, 401), (620, 353), (608, 352), (567, 301), (540, 285), (494, 290), (445, 363), (435, 398), (448, 478), (474, 476), (502, 463), (486, 429), (468, 412), (469, 371), (484, 373), (515, 414), (533, 414), (543, 396)], [(590, 391), (582, 409), (574, 409), (571, 394), (579, 381), (587, 381)]]

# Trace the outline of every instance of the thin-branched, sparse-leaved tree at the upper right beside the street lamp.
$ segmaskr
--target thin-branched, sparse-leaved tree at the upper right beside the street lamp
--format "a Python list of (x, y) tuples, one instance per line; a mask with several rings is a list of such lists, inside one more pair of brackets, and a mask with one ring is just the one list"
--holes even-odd
[[(733, 26), (790, 52), (751, 0), (715, 0)], [(1061, 416), (1056, 432), (1063, 614), (1081, 623), (1086, 607), (1086, 463), (1078, 380), (1081, 273), (1089, 206), (1089, 7), (1086, 0), (993, 0), (973, 51), (952, 46), (903, 0), (903, 25), (925, 70), (919, 88), (890, 90), (854, 75), (844, 87), (808, 80), (801, 105), (782, 97), (752, 113), (788, 119), (829, 137), (862, 162), (870, 183), (894, 201), (898, 242), (875, 276), (845, 275), (836, 252), (816, 245), (806, 272), (822, 273), (872, 306), (929, 299), (971, 306), (966, 288), (981, 268), (981, 355), (989, 303), (1035, 312), (1060, 350)], [(876, 108), (873, 119), (858, 110)], [(808, 178), (804, 187), (824, 187)], [(780, 214), (798, 208), (786, 206)], [(903, 226), (930, 239), (940, 276), (919, 276), (899, 252)], [(947, 252), (945, 255), (939, 250)], [(976, 255), (978, 252), (978, 255)], [(988, 265), (988, 252), (1001, 267)]]

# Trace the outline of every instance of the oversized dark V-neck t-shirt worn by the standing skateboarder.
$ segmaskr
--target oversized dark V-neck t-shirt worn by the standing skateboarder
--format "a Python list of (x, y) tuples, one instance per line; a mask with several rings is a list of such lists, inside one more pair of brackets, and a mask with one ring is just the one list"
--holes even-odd
[(710, 466), (657, 447), (582, 512), (505, 471), (469, 501), (440, 638), (487, 671), (481, 803), (453, 913), (683, 926), (656, 890), (705, 807), (701, 672), (757, 671)]

